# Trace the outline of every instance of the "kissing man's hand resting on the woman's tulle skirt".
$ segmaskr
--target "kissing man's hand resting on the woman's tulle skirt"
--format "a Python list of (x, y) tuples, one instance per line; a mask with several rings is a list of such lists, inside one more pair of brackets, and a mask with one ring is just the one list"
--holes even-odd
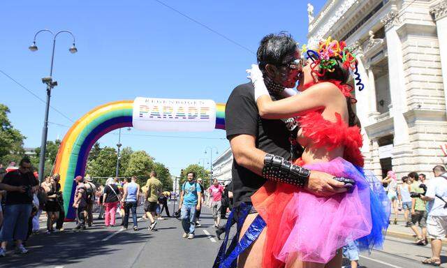
[(325, 172), (311, 170), (305, 189), (318, 196), (331, 196), (337, 193), (345, 193), (347, 189), (344, 187), (344, 183), (332, 179), (333, 177)]

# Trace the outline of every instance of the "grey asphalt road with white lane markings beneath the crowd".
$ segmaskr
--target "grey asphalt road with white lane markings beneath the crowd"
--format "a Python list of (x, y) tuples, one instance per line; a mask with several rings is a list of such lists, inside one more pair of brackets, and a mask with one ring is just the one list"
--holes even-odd
[[(141, 214), (140, 214), (141, 215)], [(131, 220), (130, 220), (131, 221)], [(118, 219), (117, 223), (121, 223)], [(202, 227), (194, 239), (182, 239), (182, 227), (175, 218), (159, 221), (156, 231), (149, 231), (148, 221), (138, 218), (138, 231), (120, 232), (120, 226), (105, 228), (95, 221), (92, 228), (75, 231), (74, 223), (65, 223), (64, 232), (31, 236), (27, 255), (8, 251), (0, 258), (0, 267), (112, 268), (112, 267), (211, 267), (220, 242), (215, 237), (212, 217), (205, 209)], [(420, 260), (430, 256), (429, 246), (414, 246), (411, 241), (388, 237), (383, 251), (362, 253), (361, 267), (427, 267)], [(447, 253), (443, 251), (443, 262)], [(441, 267), (447, 267), (443, 264)]]

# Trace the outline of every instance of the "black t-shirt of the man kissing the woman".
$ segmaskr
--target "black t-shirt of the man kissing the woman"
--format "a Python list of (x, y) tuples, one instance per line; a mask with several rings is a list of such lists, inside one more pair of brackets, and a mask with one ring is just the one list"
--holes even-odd
[[(256, 148), (286, 159), (291, 157), (291, 143), (288, 140), (291, 131), (284, 121), (259, 117), (251, 83), (241, 84), (233, 89), (226, 103), (225, 128), (228, 140), (235, 135), (253, 135), (256, 137)], [(235, 207), (240, 202), (251, 202), (251, 195), (265, 183), (263, 177), (243, 168), (236, 161), (233, 161), (231, 174)]]

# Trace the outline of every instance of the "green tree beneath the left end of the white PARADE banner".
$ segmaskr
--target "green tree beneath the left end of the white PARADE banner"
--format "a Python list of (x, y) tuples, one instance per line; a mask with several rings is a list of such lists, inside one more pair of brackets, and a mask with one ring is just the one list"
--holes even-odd
[(129, 157), (124, 176), (138, 177), (139, 184), (145, 184), (149, 178), (151, 170), (154, 168), (154, 158), (149, 156), (145, 151), (134, 151)]

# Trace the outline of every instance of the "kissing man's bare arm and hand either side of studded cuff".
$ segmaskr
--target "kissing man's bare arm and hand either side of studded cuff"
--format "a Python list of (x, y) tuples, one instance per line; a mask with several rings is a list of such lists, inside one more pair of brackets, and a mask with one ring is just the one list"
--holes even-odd
[[(265, 152), (256, 148), (256, 138), (253, 135), (235, 135), (230, 139), (230, 146), (238, 165), (262, 176)], [(346, 192), (344, 183), (336, 181), (333, 177), (325, 172), (312, 170), (305, 188), (319, 196)]]

